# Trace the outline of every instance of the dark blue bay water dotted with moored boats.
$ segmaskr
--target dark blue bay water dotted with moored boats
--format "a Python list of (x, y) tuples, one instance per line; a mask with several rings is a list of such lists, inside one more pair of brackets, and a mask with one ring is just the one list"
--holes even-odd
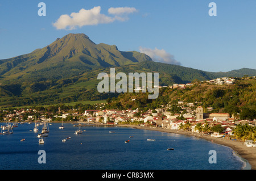
[[(60, 125), (49, 125), (44, 145), (31, 131), (34, 123), (19, 124), (13, 134), (0, 135), (0, 170), (233, 170), (244, 165), (232, 149), (196, 137), (122, 127), (81, 127), (85, 132), (75, 135), (78, 127), (67, 123), (58, 129)], [(61, 141), (67, 137), (71, 139)], [(46, 164), (38, 163), (39, 150), (46, 151)], [(217, 163), (209, 163), (209, 150), (216, 150)]]

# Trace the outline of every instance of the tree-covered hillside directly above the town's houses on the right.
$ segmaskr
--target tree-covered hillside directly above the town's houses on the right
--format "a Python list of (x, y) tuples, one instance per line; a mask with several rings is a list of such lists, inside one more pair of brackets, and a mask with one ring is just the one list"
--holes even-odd
[[(212, 112), (228, 112), (230, 115), (240, 113), (241, 119), (253, 120), (256, 118), (256, 79), (238, 79), (234, 85), (210, 85), (207, 82), (197, 83), (186, 89), (159, 89), (157, 99), (148, 99), (147, 93), (124, 93), (117, 98), (108, 99), (105, 108), (137, 109), (143, 111), (154, 110), (172, 104), (168, 110), (180, 113), (182, 109), (177, 102), (194, 103), (202, 106), (204, 112), (209, 112), (207, 107), (212, 107)], [(195, 108), (194, 107), (194, 108)]]

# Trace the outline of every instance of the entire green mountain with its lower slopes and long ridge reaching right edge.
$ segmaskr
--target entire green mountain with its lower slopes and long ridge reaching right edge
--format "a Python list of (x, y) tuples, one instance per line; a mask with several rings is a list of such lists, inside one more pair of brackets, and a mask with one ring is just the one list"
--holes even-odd
[(84, 34), (70, 33), (42, 49), (0, 60), (0, 108), (105, 100), (114, 93), (99, 93), (99, 73), (159, 72), (159, 85), (205, 81), (218, 77), (255, 76), (255, 69), (208, 72), (154, 62), (136, 51), (95, 44)]

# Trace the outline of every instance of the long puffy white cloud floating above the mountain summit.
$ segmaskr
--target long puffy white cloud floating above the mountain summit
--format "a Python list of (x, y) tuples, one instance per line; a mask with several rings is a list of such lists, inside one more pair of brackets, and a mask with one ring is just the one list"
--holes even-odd
[[(72, 12), (71, 15), (61, 15), (60, 18), (53, 23), (53, 26), (56, 27), (57, 30), (74, 30), (77, 27), (112, 23), (115, 20), (125, 21), (129, 19), (127, 14), (135, 11), (137, 10), (134, 7), (111, 7), (109, 9), (109, 14), (115, 15), (112, 17), (101, 14), (101, 7), (96, 6), (90, 10), (81, 9), (79, 12)], [(123, 14), (125, 14), (125, 16), (121, 16)]]

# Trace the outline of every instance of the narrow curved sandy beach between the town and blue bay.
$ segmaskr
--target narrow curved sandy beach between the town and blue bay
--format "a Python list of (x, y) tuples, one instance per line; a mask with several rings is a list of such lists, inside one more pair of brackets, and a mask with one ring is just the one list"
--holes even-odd
[(192, 133), (192, 132), (184, 132), (184, 131), (177, 131), (173, 129), (164, 129), (164, 128), (152, 128), (152, 127), (140, 127), (134, 125), (117, 125), (120, 127), (132, 127), (136, 129), (147, 129), (152, 131), (160, 131), (160, 132), (167, 132), (167, 133), (176, 133), (176, 134), (184, 134), (187, 136), (195, 136), (199, 138), (203, 138), (208, 141), (213, 141), (215, 144), (220, 144), (224, 146), (228, 146), (232, 148), (240, 157), (246, 159), (249, 164), (251, 165), (251, 170), (256, 170), (256, 148), (249, 148), (243, 144), (243, 141), (232, 141), (226, 138), (214, 138), (211, 136), (201, 136), (199, 133)]

